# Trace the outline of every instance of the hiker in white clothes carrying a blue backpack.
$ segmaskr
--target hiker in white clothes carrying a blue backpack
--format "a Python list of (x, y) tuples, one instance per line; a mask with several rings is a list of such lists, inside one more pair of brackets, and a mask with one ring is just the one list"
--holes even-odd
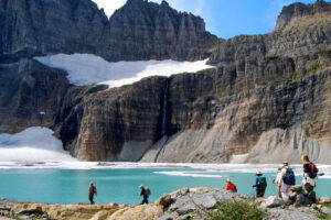
[(282, 169), (280, 170), (280, 179), (278, 180), (278, 191), (281, 193), (281, 198), (285, 201), (289, 199), (289, 193), (291, 186), (296, 185), (296, 176), (293, 170), (289, 167), (287, 162), (282, 163)]

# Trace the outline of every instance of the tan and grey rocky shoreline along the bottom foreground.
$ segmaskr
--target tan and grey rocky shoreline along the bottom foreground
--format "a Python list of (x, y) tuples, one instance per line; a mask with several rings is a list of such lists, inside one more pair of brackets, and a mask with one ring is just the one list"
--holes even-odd
[[(295, 197), (298, 197), (296, 194)], [(248, 198), (246, 196), (217, 188), (184, 188), (163, 195), (149, 205), (43, 205), (28, 201), (0, 199), (0, 219), (24, 220), (179, 220), (212, 219), (211, 213), (224, 202), (244, 201), (264, 213), (265, 220), (330, 219), (331, 199), (318, 198), (316, 204), (293, 201), (285, 205), (276, 197)]]

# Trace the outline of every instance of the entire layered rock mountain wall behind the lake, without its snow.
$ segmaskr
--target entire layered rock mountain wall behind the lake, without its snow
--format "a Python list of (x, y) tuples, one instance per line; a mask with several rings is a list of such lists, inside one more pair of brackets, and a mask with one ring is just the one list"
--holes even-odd
[[(331, 148), (331, 3), (289, 6), (274, 32), (217, 40), (215, 46), (200, 18), (167, 2), (129, 0), (109, 21), (87, 0), (65, 2), (40, 1), (40, 12), (31, 1), (0, 4), (0, 15), (17, 21), (0, 23), (1, 132), (46, 125), (65, 150), (88, 161), (299, 163), (308, 153), (331, 163), (324, 156)], [(43, 19), (30, 29), (28, 12), (8, 13), (29, 9), (33, 18), (46, 6), (47, 16), (65, 21), (70, 14), (74, 23)], [(77, 31), (47, 40), (54, 25)], [(210, 57), (215, 68), (105, 90), (75, 87), (65, 73), (20, 58), (57, 52), (109, 61)], [(42, 121), (39, 112), (46, 112)]]

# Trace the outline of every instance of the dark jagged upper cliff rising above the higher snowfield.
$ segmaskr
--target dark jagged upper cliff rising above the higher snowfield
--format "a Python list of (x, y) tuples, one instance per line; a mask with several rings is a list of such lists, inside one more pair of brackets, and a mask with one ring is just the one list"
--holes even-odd
[(90, 0), (2, 0), (2, 62), (36, 54), (89, 53), (108, 61), (205, 58), (216, 36), (204, 22), (161, 6), (129, 0), (108, 20)]

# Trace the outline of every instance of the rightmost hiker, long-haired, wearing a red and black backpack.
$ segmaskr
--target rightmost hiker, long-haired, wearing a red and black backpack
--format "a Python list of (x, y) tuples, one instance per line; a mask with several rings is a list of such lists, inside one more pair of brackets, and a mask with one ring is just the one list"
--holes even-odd
[(310, 193), (316, 187), (314, 179), (318, 175), (318, 168), (309, 161), (309, 157), (306, 154), (301, 156), (301, 161), (303, 164), (302, 186), (305, 187), (306, 191)]

